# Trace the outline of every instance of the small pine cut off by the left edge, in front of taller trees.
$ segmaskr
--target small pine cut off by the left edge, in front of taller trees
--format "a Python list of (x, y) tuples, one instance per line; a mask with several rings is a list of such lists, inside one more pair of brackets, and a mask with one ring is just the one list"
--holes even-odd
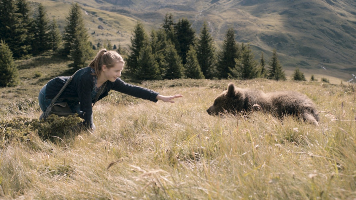
[(9, 46), (0, 42), (0, 87), (16, 86), (20, 82), (19, 72)]

